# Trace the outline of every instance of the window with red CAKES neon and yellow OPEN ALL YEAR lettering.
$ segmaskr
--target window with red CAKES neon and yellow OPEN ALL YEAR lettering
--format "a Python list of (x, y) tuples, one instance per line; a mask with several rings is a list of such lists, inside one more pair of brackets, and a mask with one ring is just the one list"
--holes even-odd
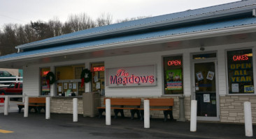
[(253, 94), (253, 51), (227, 51), (229, 94)]

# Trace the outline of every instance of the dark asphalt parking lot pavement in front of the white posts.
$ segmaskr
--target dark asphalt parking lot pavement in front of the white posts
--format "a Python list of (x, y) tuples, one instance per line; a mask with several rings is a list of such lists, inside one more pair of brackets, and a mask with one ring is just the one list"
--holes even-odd
[[(151, 119), (150, 129), (144, 129), (143, 121), (130, 120), (128, 117), (112, 117), (111, 126), (106, 126), (105, 119), (98, 117), (78, 115), (78, 122), (72, 122), (73, 115), (70, 114), (51, 113), (50, 120), (45, 120), (45, 113), (29, 113), (29, 117), (23, 117), (23, 114), (0, 114), (1, 139), (247, 138), (243, 124), (197, 122), (197, 132), (190, 132), (190, 122)], [(13, 133), (1, 133), (1, 130)]]

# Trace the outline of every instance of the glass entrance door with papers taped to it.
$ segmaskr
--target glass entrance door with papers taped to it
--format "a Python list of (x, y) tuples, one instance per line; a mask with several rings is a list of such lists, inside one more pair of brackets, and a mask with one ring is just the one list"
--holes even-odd
[(194, 99), (198, 120), (219, 120), (216, 61), (194, 61)]

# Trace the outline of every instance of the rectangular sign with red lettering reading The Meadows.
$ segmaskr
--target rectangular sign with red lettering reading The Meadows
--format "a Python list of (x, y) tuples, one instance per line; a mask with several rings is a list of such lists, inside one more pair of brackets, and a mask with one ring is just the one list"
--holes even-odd
[(156, 85), (155, 65), (106, 69), (106, 86)]

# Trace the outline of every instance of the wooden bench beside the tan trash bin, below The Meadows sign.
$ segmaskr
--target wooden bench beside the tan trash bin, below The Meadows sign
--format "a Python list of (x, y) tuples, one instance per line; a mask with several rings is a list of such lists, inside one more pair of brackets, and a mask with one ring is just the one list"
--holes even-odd
[[(104, 105), (106, 105), (106, 99), (104, 99)], [(137, 117), (140, 118), (140, 113), (138, 108), (141, 106), (141, 99), (122, 99), (122, 98), (109, 98), (111, 99), (111, 109), (114, 110), (115, 118), (118, 117), (118, 113), (122, 117), (125, 117), (124, 110), (130, 110), (131, 119), (134, 119), (134, 114), (137, 114)], [(106, 110), (106, 107), (97, 107), (99, 109), (99, 117), (102, 117), (102, 113)]]

